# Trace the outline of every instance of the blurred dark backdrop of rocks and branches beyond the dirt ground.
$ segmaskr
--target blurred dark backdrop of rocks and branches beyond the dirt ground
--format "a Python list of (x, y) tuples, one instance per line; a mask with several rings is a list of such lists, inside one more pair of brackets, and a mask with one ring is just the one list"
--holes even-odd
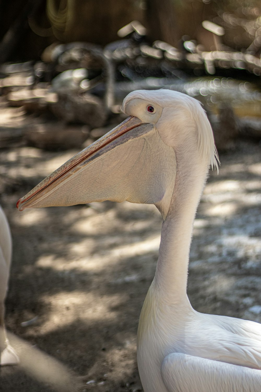
[(159, 88), (201, 100), (219, 150), (260, 139), (259, 1), (1, 0), (0, 18), (2, 102), (33, 114), (2, 147), (81, 147)]

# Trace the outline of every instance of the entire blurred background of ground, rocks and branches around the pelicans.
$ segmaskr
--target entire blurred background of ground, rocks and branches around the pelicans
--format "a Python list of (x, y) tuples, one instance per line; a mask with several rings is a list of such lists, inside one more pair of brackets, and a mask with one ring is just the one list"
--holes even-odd
[[(161, 216), (127, 202), (21, 213), (16, 201), (124, 120), (131, 91), (189, 94), (221, 161), (195, 220), (189, 298), (198, 311), (260, 322), (260, 56), (259, 0), (0, 0), (6, 325), (81, 377), (81, 390), (142, 391), (136, 332)], [(1, 369), (0, 390), (57, 390), (30, 367)]]

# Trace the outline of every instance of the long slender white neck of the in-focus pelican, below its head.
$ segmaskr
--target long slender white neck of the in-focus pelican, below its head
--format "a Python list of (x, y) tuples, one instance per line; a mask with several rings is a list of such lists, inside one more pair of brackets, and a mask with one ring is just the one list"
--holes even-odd
[[(194, 159), (191, 159), (194, 155)], [(187, 271), (193, 222), (207, 175), (207, 162), (192, 151), (176, 153), (175, 188), (162, 224), (154, 284), (161, 298), (182, 304), (187, 299)]]

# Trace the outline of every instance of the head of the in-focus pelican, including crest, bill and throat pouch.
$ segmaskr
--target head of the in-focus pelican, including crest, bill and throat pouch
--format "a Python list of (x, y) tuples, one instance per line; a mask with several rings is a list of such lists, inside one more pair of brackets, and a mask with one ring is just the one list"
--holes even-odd
[(123, 111), (130, 117), (41, 181), (18, 209), (127, 200), (155, 204), (165, 219), (180, 155), (187, 150), (206, 168), (216, 166), (212, 129), (194, 98), (138, 90)]

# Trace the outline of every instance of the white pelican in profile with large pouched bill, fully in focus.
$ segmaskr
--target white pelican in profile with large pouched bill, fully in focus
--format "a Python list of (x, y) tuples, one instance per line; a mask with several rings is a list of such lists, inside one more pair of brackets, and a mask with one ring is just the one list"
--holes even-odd
[(218, 168), (200, 103), (133, 91), (128, 117), (18, 201), (18, 209), (123, 200), (155, 204), (162, 232), (142, 307), (137, 361), (144, 392), (260, 392), (261, 326), (196, 312), (187, 297), (193, 221), (209, 166)]

